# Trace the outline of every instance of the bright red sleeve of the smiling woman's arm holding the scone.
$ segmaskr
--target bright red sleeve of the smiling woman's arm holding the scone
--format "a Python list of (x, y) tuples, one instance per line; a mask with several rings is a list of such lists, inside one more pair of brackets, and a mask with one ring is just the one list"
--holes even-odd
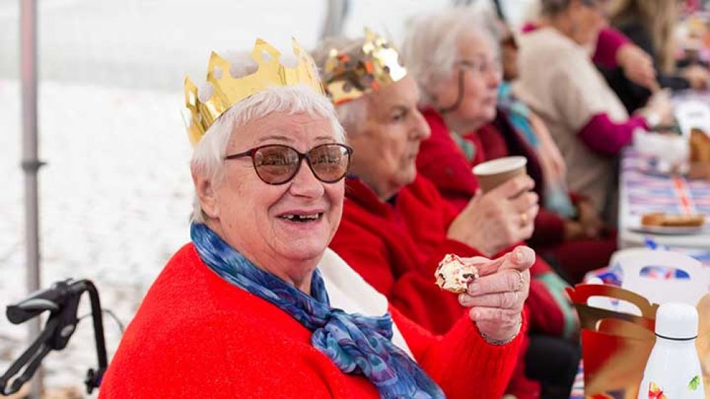
[(466, 316), (446, 335), (433, 336), (392, 306), (390, 311), (417, 363), (439, 384), (447, 398), (503, 397), (525, 336), (525, 317), (523, 328), (513, 341), (491, 345)]

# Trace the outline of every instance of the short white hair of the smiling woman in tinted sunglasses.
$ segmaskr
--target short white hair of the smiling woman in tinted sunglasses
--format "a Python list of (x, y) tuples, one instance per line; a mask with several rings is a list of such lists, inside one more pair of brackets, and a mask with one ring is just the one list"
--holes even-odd
[[(327, 118), (332, 125), (336, 142), (345, 143), (344, 130), (338, 123), (332, 103), (326, 96), (315, 93), (303, 84), (276, 86), (239, 101), (214, 121), (202, 140), (197, 143), (192, 154), (190, 162), (192, 173), (206, 176), (214, 186), (222, 184), (226, 147), (232, 135), (238, 134), (239, 128), (244, 127), (251, 120), (263, 118), (274, 112), (289, 115), (305, 112), (316, 118)], [(197, 190), (193, 201), (192, 221), (204, 223), (204, 212)]]

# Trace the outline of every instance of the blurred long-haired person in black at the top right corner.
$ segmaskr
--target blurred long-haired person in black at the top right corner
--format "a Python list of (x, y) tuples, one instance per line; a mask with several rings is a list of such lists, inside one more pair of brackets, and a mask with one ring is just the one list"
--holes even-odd
[(628, 112), (648, 101), (652, 91), (668, 88), (707, 89), (710, 72), (699, 64), (682, 69), (676, 66), (678, 47), (675, 30), (679, 18), (677, 0), (616, 0), (611, 7), (611, 23), (633, 43), (648, 52), (657, 72), (656, 87), (639, 86), (618, 68), (602, 69), (611, 88)]

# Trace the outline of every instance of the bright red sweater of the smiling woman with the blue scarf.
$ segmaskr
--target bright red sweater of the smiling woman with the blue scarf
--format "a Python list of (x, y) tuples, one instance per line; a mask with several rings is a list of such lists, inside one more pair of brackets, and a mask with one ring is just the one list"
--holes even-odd
[[(503, 346), (461, 317), (436, 337), (390, 307), (415, 359), (449, 398), (500, 398), (521, 335)], [(138, 309), (99, 398), (378, 398), (310, 344), (293, 317), (205, 266), (185, 245)]]

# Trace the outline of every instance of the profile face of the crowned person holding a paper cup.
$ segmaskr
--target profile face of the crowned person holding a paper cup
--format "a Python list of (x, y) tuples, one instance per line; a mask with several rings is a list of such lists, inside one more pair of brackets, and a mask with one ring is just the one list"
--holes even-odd
[(414, 181), (419, 144), (430, 135), (417, 109), (419, 89), (406, 76), (358, 101), (368, 101), (368, 111), (367, 120), (349, 137), (354, 150), (351, 171), (381, 199), (388, 199)]

